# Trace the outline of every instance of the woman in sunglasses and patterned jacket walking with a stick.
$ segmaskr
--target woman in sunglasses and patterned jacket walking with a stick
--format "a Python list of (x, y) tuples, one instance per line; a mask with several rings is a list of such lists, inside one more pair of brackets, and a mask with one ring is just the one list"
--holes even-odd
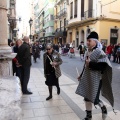
[(52, 86), (56, 86), (57, 94), (60, 94), (58, 78), (61, 76), (60, 65), (62, 64), (62, 59), (60, 58), (60, 54), (53, 50), (52, 44), (47, 44), (46, 50), (43, 55), (43, 61), (44, 76), (46, 78), (45, 84), (49, 90), (49, 97), (47, 97), (46, 100), (49, 100), (52, 98)]

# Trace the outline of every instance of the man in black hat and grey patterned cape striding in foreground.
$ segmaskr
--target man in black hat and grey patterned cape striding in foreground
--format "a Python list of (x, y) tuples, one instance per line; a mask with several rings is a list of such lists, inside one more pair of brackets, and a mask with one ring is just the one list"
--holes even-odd
[[(102, 110), (103, 120), (107, 117), (107, 108), (99, 99), (100, 91), (114, 106), (112, 93), (112, 67), (106, 54), (102, 50), (98, 41), (98, 34), (91, 32), (87, 37), (88, 51), (86, 53), (85, 65), (82, 74), (78, 77), (79, 85), (76, 94), (84, 97), (86, 107), (86, 117), (84, 120), (92, 119), (92, 103), (99, 105)], [(99, 46), (98, 46), (99, 45)]]

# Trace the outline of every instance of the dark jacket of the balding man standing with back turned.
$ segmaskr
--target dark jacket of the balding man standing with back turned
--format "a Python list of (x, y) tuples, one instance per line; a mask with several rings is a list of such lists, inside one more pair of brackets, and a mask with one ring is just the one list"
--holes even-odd
[(30, 46), (28, 43), (24, 42), (19, 47), (16, 58), (22, 66), (31, 66)]

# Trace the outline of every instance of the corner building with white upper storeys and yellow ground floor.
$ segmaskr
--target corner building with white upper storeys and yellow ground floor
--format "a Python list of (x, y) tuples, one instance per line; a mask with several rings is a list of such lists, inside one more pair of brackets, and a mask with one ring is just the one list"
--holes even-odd
[(120, 1), (70, 0), (68, 7), (67, 41), (78, 47), (91, 31), (99, 34), (106, 45), (120, 42)]

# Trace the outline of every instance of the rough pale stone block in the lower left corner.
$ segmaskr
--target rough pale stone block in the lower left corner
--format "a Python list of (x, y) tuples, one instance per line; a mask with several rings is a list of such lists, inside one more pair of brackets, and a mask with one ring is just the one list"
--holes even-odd
[(19, 78), (0, 78), (0, 120), (22, 120), (21, 86)]

